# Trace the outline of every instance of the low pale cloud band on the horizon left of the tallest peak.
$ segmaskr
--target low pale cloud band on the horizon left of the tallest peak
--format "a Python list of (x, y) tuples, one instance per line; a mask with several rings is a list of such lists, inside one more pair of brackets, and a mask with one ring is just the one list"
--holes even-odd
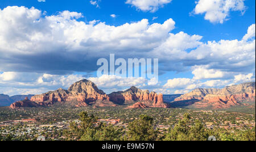
[(0, 74), (0, 92), (8, 95), (42, 94), (57, 88), (67, 89), (82, 75), (51, 75), (40, 73), (4, 72)]

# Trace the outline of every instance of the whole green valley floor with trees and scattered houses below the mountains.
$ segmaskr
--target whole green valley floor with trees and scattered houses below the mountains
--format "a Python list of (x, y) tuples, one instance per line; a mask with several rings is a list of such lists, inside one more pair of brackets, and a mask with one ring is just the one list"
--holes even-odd
[[(49, 107), (14, 111), (0, 108), (0, 116), (0, 121), (36, 120), (32, 124), (1, 126), (0, 123), (0, 140), (36, 140), (44, 136), (46, 140), (205, 141), (214, 136), (222, 141), (255, 141), (255, 113), (180, 108)], [(120, 123), (99, 119), (120, 119)]]

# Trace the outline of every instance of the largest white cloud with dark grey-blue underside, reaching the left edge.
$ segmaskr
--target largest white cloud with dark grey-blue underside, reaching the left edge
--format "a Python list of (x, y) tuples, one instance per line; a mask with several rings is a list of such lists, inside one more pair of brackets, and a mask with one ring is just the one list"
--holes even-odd
[[(77, 21), (81, 17), (82, 14), (69, 11), (44, 16), (33, 7), (9, 6), (0, 10), (0, 71), (94, 71), (98, 58), (110, 53), (123, 58), (144, 56), (175, 27), (172, 19), (163, 24), (149, 24), (142, 19), (115, 27), (96, 20)], [(124, 53), (127, 50), (129, 53)]]

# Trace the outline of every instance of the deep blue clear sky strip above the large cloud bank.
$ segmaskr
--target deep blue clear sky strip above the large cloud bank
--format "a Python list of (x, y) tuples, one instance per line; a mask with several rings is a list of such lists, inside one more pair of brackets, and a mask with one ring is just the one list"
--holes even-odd
[[(111, 2), (102, 0), (98, 3), (100, 8), (91, 5), (89, 0), (46, 0), (46, 2), (38, 2), (37, 0), (1, 0), (0, 8), (3, 9), (7, 6), (35, 7), (36, 9), (47, 11), (47, 15), (53, 15), (64, 10), (76, 11), (84, 15), (81, 20), (85, 22), (96, 19), (113, 26), (137, 22), (142, 19), (148, 19), (150, 23), (163, 23), (172, 18), (176, 22), (174, 33), (179, 31), (189, 34), (196, 33), (204, 36), (203, 41), (218, 41), (221, 39), (242, 39), (247, 28), (255, 23), (255, 1), (246, 0), (244, 3), (246, 6), (245, 14), (241, 15), (240, 11), (230, 11), (230, 19), (223, 24), (212, 24), (208, 20), (204, 20), (204, 15), (189, 15), (195, 9), (195, 0), (187, 0), (185, 3), (173, 0), (154, 13), (137, 10), (136, 7), (127, 5), (122, 0), (112, 0)], [(110, 17), (111, 14), (118, 15), (118, 17), (112, 18)], [(158, 18), (152, 21), (153, 17)]]

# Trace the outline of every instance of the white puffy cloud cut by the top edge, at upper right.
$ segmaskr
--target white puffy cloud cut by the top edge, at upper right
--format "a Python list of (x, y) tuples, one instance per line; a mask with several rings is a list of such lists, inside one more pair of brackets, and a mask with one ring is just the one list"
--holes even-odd
[(245, 12), (245, 0), (197, 0), (193, 13), (204, 14), (204, 19), (212, 23), (223, 23), (228, 20), (230, 11)]

